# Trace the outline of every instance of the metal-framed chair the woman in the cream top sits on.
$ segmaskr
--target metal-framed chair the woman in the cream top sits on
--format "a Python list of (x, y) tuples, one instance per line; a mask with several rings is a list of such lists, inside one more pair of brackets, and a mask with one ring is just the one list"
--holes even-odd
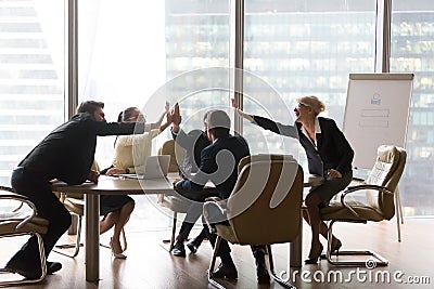
[[(97, 160), (93, 161), (92, 170), (100, 171), (100, 167)], [(81, 239), (81, 227), (82, 227), (82, 216), (85, 215), (85, 196), (79, 193), (59, 193), (54, 192), (54, 194), (59, 197), (59, 200), (65, 206), (65, 208), (69, 211), (73, 216), (73, 223), (68, 229), (68, 235), (76, 235), (75, 242), (67, 244), (59, 244), (54, 247), (53, 251), (66, 257), (75, 258), (80, 250), (82, 244)], [(122, 231), (124, 248), (123, 251), (127, 249), (127, 238), (125, 236), (125, 231)], [(108, 248), (108, 245), (101, 244), (102, 247)], [(73, 249), (71, 251), (69, 249)]]

